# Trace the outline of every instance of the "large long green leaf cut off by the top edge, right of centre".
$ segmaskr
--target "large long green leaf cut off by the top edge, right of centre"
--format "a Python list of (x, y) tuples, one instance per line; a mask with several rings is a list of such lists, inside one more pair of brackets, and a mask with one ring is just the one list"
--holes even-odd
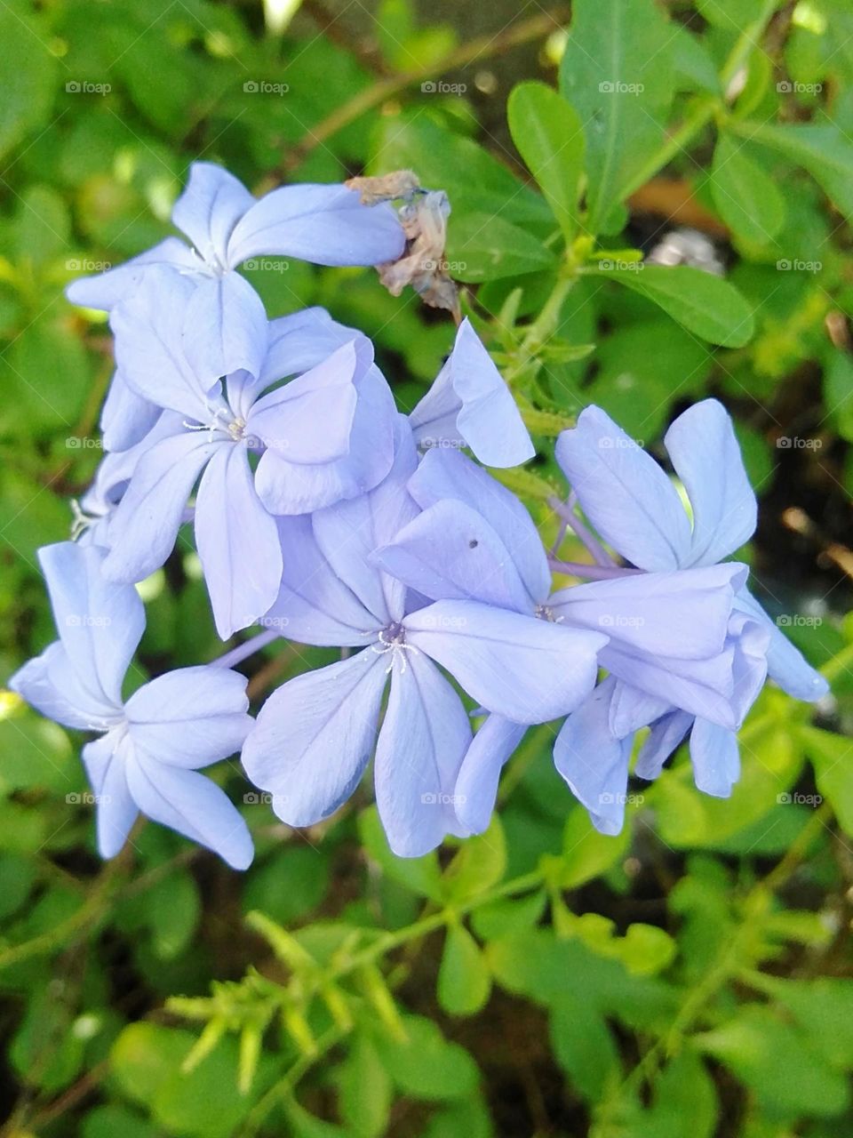
[[(672, 25), (654, 0), (575, 0), (560, 88), (585, 124), (588, 228), (614, 207), (664, 140), (674, 93)], [(615, 225), (615, 228), (614, 228)]]

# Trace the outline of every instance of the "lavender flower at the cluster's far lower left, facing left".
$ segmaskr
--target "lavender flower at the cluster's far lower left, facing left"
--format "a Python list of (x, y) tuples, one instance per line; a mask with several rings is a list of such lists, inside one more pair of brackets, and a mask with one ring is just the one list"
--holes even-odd
[(118, 852), (142, 813), (245, 869), (252, 857), (246, 823), (198, 769), (242, 745), (252, 725), (246, 678), (227, 668), (182, 668), (123, 700), (144, 611), (132, 585), (103, 578), (102, 556), (71, 542), (40, 550), (59, 640), (9, 686), (64, 726), (100, 734), (83, 748), (83, 761), (102, 857)]

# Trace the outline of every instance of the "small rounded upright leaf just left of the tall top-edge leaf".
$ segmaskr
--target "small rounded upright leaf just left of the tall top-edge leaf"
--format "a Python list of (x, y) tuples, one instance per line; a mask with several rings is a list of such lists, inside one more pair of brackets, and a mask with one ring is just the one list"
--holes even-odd
[(510, 94), (506, 113), (513, 142), (569, 244), (579, 228), (583, 124), (565, 99), (545, 83), (519, 83)]

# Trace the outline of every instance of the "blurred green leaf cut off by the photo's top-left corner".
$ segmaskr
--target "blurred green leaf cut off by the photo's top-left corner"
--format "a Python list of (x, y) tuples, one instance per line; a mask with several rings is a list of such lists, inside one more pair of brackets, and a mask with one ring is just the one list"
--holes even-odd
[(57, 64), (49, 35), (28, 3), (0, 7), (0, 72), (6, 76), (0, 100), (0, 155), (44, 124), (57, 91)]

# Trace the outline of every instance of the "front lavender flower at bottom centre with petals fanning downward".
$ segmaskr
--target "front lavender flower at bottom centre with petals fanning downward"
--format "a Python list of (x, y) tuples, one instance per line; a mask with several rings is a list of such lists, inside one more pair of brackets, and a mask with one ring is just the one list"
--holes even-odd
[[(471, 727), (437, 665), (487, 709), (543, 723), (590, 691), (596, 654), (606, 643), (602, 634), (562, 629), (464, 594), (424, 603), (379, 568), (374, 551), (381, 561), (381, 551), (417, 514), (406, 492), (415, 468), (411, 431), (400, 419), (395, 465), (379, 487), (312, 519), (280, 522), (296, 555), (285, 562), (270, 619), (293, 640), (363, 651), (280, 687), (243, 748), (249, 777), (273, 793), (275, 813), (291, 825), (309, 825), (353, 793), (375, 745), (380, 816), (391, 848), (406, 857), (465, 832), (454, 795)], [(475, 572), (486, 554), (478, 534), (446, 534), (448, 560), (464, 549)]]

